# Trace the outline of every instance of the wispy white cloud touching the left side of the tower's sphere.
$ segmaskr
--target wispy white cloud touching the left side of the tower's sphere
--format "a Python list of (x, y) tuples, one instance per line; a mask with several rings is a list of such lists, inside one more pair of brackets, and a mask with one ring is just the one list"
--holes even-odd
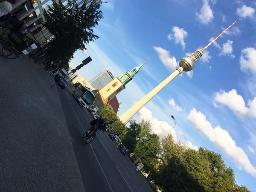
[(160, 58), (160, 60), (162, 61), (166, 68), (168, 68), (171, 72), (176, 70), (176, 68), (178, 67), (178, 63), (174, 56), (170, 56), (169, 51), (161, 47), (154, 47), (154, 49), (158, 53), (158, 57)]

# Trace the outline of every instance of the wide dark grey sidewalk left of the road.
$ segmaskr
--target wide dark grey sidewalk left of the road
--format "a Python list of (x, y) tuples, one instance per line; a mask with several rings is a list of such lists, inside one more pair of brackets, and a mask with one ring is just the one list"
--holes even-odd
[(24, 55), (0, 65), (0, 191), (84, 191), (53, 78)]

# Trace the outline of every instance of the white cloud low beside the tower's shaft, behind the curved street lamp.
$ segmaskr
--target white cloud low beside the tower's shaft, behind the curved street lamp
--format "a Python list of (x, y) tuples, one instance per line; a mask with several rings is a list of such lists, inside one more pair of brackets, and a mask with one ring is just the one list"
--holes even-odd
[[(166, 132), (168, 132), (172, 126), (169, 125), (166, 121), (159, 121), (157, 118), (152, 116), (152, 112), (147, 109), (146, 107), (143, 107), (139, 111), (140, 119), (147, 119), (151, 122), (152, 125), (152, 131), (155, 134), (159, 134), (160, 136), (164, 135)], [(177, 142), (176, 137), (176, 131), (174, 128), (170, 132), (173, 136), (173, 139)]]

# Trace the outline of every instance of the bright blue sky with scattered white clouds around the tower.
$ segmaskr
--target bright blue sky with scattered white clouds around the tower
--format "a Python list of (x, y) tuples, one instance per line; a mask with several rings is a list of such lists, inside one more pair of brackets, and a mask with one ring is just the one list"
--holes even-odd
[(178, 67), (180, 58), (206, 46), (237, 21), (135, 117), (149, 119), (153, 132), (172, 131), (191, 148), (222, 155), (239, 185), (256, 189), (256, 2), (251, 0), (109, 0), (94, 32), (100, 39), (77, 51), (70, 65), (93, 59), (78, 74), (90, 80), (102, 69), (121, 76), (146, 61), (118, 96), (118, 115)]

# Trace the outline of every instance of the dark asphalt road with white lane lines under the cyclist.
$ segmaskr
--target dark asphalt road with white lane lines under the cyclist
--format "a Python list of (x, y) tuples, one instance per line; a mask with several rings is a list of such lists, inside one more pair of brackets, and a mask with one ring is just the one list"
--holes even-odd
[(100, 131), (85, 145), (82, 135), (92, 116), (75, 101), (69, 87), (57, 86), (86, 192), (150, 192), (145, 180), (108, 134)]

